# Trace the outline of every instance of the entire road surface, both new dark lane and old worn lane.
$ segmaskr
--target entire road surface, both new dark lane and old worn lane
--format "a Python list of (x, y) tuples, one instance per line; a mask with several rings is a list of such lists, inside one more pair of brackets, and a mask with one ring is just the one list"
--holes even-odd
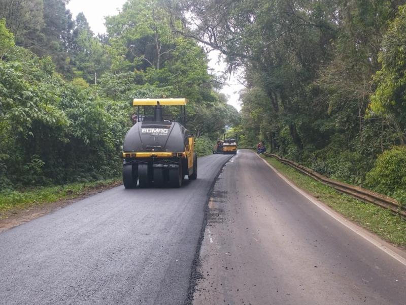
[(180, 189), (122, 186), (0, 233), (0, 304), (406, 304), (406, 266), (251, 151)]

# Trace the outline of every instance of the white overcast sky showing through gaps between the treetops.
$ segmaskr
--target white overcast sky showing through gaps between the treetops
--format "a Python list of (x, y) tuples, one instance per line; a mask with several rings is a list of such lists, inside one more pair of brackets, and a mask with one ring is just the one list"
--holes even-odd
[[(106, 33), (104, 25), (106, 16), (117, 15), (122, 5), (126, 0), (71, 0), (67, 8), (71, 10), (73, 18), (83, 12), (87, 21), (95, 34)], [(218, 62), (218, 53), (209, 53), (210, 63), (209, 66), (217, 75), (221, 75), (224, 71), (225, 65)], [(233, 105), (238, 110), (241, 109), (239, 104), (239, 91), (243, 86), (236, 80), (234, 76), (227, 81), (221, 90), (222, 93), (228, 96), (228, 103)]]

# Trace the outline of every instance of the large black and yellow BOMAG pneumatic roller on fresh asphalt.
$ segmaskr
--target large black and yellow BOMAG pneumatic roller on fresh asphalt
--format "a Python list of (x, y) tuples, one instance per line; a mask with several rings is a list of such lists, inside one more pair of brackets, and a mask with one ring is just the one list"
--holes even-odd
[[(194, 136), (186, 129), (186, 99), (134, 99), (136, 124), (127, 132), (123, 145), (123, 183), (137, 186), (174, 188), (187, 175), (197, 178)], [(163, 114), (162, 106), (180, 106), (179, 114)], [(142, 112), (142, 113), (141, 113)]]

